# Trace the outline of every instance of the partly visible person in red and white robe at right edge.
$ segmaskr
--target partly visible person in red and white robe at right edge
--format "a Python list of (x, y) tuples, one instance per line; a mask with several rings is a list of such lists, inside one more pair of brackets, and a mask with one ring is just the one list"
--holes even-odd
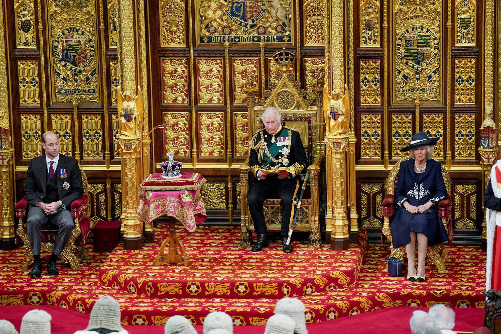
[(501, 290), (501, 160), (497, 160), (492, 166), (483, 206), (487, 209), (485, 289)]

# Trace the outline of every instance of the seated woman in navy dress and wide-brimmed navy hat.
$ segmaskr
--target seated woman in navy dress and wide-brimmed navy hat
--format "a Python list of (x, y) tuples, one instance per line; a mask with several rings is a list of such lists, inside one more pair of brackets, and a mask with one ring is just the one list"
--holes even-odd
[[(438, 138), (428, 138), (423, 131), (412, 136), (411, 144), (402, 148), (412, 159), (400, 163), (395, 184), (395, 216), (391, 223), (393, 248), (405, 246), (407, 279), (424, 281), (424, 264), (428, 246), (447, 242), (447, 231), (438, 217), (438, 202), (447, 197), (440, 162), (432, 159)], [(414, 264), (417, 240), (417, 272)]]

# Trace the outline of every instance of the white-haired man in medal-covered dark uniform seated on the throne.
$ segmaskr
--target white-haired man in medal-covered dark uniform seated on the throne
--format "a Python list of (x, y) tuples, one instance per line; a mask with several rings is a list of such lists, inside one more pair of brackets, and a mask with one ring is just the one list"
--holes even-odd
[[(268, 247), (263, 203), (278, 194), (282, 207), (282, 245), (284, 252), (291, 253), (292, 245), (286, 243), (296, 204), (294, 199), (299, 190), (299, 175), (306, 168), (306, 153), (299, 132), (282, 126), (279, 109), (267, 107), (261, 120), (265, 128), (253, 134), (249, 155), (250, 172), (257, 179), (247, 196), (249, 213), (258, 235), (252, 251)], [(274, 174), (263, 171), (278, 169)]]

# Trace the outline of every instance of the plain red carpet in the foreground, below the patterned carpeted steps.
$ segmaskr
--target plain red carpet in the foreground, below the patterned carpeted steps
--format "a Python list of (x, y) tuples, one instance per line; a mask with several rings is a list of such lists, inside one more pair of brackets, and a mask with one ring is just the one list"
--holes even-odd
[[(16, 329), (21, 326), (23, 315), (31, 309), (43, 309), (52, 315), (53, 334), (71, 334), (76, 330), (85, 329), (89, 322), (89, 315), (63, 309), (57, 306), (0, 306), (0, 312), (6, 320), (11, 321)], [(409, 333), (409, 319), (417, 309), (427, 311), (426, 307), (392, 307), (388, 309), (342, 317), (330, 321), (322, 321), (307, 325), (310, 334), (317, 333), (350, 333), (366, 334), (369, 332), (400, 334)], [(454, 308), (456, 313), (455, 330), (473, 331), (483, 325), (483, 309), (481, 308)], [(61, 320), (64, 319), (64, 320)], [(362, 324), (362, 325), (361, 325)], [(125, 326), (131, 334), (163, 334), (163, 326)], [(202, 333), (203, 326), (195, 326), (198, 333)], [(234, 334), (262, 334), (263, 326), (234, 326)]]

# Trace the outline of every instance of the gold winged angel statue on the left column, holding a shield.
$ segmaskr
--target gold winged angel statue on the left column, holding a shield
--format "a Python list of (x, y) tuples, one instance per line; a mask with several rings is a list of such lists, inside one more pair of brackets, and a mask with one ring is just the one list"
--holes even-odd
[(132, 96), (122, 94), (121, 87), (117, 87), (117, 105), (119, 116), (119, 132), (124, 136), (141, 136), (143, 129), (143, 92), (137, 86), (137, 95), (134, 100)]

